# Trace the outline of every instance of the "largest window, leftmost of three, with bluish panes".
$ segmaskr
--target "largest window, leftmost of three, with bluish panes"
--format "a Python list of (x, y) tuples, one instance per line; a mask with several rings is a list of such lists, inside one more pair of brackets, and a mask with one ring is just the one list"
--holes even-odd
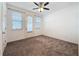
[(11, 11), (12, 29), (22, 29), (22, 14), (17, 11)]

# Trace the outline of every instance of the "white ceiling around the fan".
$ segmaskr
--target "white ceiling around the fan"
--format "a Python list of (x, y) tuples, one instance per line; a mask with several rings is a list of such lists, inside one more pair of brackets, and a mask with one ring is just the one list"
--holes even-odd
[(76, 4), (75, 2), (49, 2), (49, 4), (46, 6), (48, 8), (50, 8), (49, 11), (44, 10), (43, 12), (39, 12), (38, 10), (32, 10), (33, 8), (36, 8), (37, 6), (33, 3), (33, 2), (9, 2), (8, 4), (23, 8), (23, 9), (27, 9), (33, 12), (36, 12), (40, 15), (48, 15), (51, 12), (55, 12), (58, 11), (60, 9), (63, 9), (67, 6)]

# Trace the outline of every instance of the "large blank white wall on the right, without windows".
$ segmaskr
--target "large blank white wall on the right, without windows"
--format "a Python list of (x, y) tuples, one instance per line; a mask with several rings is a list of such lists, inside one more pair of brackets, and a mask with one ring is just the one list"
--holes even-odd
[(68, 6), (54, 13), (51, 12), (48, 16), (44, 17), (43, 34), (77, 43), (77, 13), (77, 4)]

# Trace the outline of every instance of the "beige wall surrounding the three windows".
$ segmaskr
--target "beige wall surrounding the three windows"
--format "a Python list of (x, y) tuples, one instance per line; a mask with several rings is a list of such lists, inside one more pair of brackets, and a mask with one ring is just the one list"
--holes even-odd
[[(11, 7), (10, 5), (8, 6), (9, 8)], [(18, 9), (15, 6), (11, 7), (14, 9)], [(22, 11), (21, 9), (19, 9), (20, 11)], [(27, 11), (23, 11), (25, 12), (25, 14), (23, 13), (23, 28), (21, 30), (12, 30), (12, 20), (10, 18), (10, 13), (8, 12), (8, 20), (7, 20), (7, 42), (12, 42), (12, 41), (16, 41), (16, 40), (20, 40), (20, 39), (24, 39), (24, 38), (29, 38), (29, 37), (34, 37), (34, 36), (38, 36), (41, 35), (41, 30), (40, 31), (36, 31), (33, 28), (33, 32), (32, 33), (28, 33), (26, 30), (26, 22), (27, 22), (27, 16), (30, 14), (33, 16), (33, 20), (34, 20), (34, 15), (32, 14), (32, 12), (27, 12)], [(29, 14), (27, 14), (29, 13)]]

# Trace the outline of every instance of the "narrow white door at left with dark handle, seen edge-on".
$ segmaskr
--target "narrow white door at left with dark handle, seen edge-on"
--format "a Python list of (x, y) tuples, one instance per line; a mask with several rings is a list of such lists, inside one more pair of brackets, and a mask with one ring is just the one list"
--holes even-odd
[(6, 13), (7, 13), (7, 9), (6, 9), (6, 3), (3, 3), (3, 10), (2, 10), (3, 14), (2, 14), (2, 48), (3, 48), (3, 52), (4, 49), (6, 47), (7, 44), (7, 37), (6, 37), (6, 30), (7, 30), (7, 17), (6, 17)]

